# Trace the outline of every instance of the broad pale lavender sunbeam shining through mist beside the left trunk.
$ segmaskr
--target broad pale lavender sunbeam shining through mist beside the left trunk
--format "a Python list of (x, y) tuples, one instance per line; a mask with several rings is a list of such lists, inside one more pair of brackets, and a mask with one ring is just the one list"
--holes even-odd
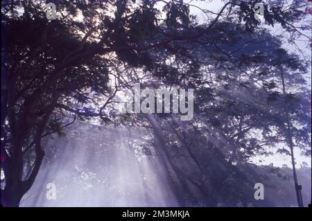
[[(78, 136), (48, 141), (51, 152), (21, 206), (177, 206), (158, 157), (135, 154), (132, 134), (144, 130), (83, 126)], [(55, 200), (46, 198), (48, 183)]]

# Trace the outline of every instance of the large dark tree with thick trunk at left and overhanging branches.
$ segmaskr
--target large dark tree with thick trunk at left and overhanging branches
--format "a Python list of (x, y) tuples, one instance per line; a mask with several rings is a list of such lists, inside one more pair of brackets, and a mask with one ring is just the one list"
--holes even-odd
[[(199, 25), (189, 15), (190, 5), (182, 1), (166, 3), (162, 19), (157, 2), (58, 2), (58, 19), (53, 21), (46, 20), (42, 1), (3, 3), (1, 168), (6, 186), (1, 189), (1, 204), (19, 205), (40, 169), (42, 139), (62, 134), (62, 128), (71, 124), (68, 118), (109, 121), (105, 107), (119, 90), (110, 74), (119, 79), (121, 70), (135, 68), (150, 71), (166, 83), (175, 75), (192, 83), (198, 79), (200, 63), (196, 50), (188, 45), (204, 41), (216, 46), (227, 41), (209, 38), (221, 15), (234, 23), (244, 20), (250, 31), (259, 25), (250, 16), (253, 2), (227, 1), (207, 26)], [(295, 18), (292, 11), (278, 7), (265, 12), (271, 25), (277, 22), (289, 28)], [(168, 65), (172, 57), (175, 61)], [(177, 65), (189, 69), (183, 72)]]

